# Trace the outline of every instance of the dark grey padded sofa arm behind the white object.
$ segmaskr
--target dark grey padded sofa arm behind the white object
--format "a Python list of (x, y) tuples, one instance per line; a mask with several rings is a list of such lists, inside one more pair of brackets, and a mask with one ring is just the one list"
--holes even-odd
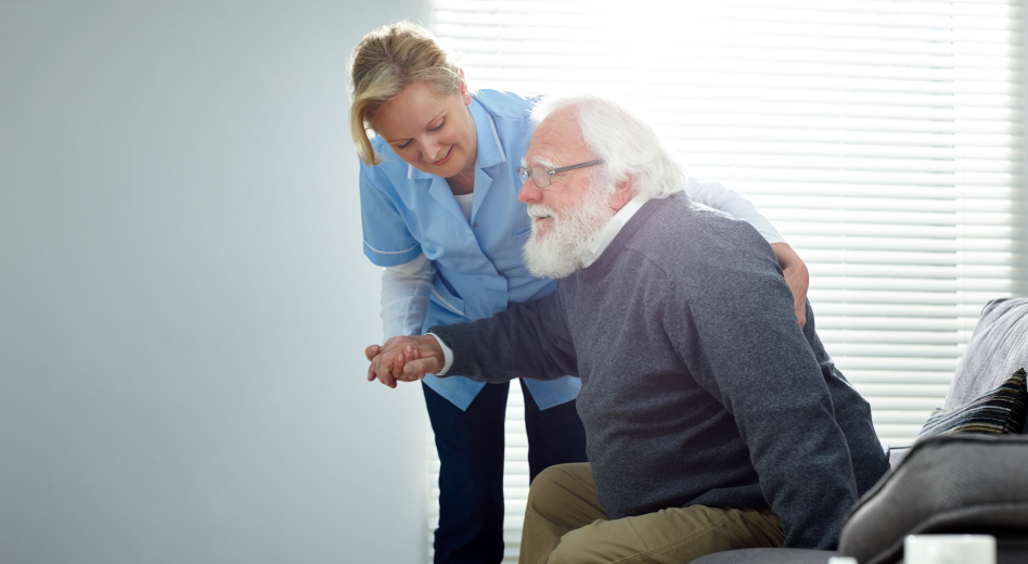
[(839, 553), (861, 564), (892, 564), (903, 555), (907, 535), (976, 533), (997, 537), (1001, 554), (1021, 551), (1028, 539), (1026, 467), (1026, 435), (920, 439), (850, 511)]

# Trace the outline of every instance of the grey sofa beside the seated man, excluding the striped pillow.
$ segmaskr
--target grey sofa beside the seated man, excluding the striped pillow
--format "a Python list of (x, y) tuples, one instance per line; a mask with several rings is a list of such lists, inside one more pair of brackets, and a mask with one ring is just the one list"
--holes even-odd
[[(1028, 367), (1028, 298), (1002, 298), (981, 310), (943, 410), (968, 406)], [(1021, 412), (1023, 416), (1023, 412)], [(693, 564), (860, 564), (902, 562), (911, 534), (989, 534), (999, 564), (1028, 563), (1028, 435), (926, 436), (890, 452), (892, 470), (846, 517), (838, 551), (745, 549)]]

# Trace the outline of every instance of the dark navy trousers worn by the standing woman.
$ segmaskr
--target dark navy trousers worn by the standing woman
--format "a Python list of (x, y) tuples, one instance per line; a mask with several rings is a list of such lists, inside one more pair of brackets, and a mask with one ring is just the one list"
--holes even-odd
[[(521, 382), (521, 381), (518, 381)], [(540, 410), (525, 395), (530, 479), (554, 464), (586, 462), (586, 432), (575, 401)], [(510, 384), (487, 384), (466, 411), (422, 384), (439, 451), (436, 564), (503, 560), (503, 437)]]

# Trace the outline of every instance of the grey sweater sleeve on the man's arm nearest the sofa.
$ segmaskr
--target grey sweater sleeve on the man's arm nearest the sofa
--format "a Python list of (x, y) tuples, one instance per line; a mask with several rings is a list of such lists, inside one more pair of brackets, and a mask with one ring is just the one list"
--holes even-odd
[(849, 449), (774, 256), (748, 236), (743, 253), (717, 242), (691, 253), (669, 333), (735, 419), (785, 546), (831, 549), (857, 501)]

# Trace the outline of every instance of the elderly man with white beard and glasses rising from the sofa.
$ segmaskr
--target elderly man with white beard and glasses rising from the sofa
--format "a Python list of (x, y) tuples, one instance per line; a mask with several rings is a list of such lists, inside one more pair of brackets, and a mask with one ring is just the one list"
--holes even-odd
[(370, 375), (581, 377), (589, 463), (532, 483), (522, 563), (833, 547), (888, 461), (809, 305), (797, 323), (771, 248), (692, 204), (622, 107), (580, 97), (539, 112), (519, 194), (534, 219), (525, 258), (562, 279), (556, 292), (369, 347)]

